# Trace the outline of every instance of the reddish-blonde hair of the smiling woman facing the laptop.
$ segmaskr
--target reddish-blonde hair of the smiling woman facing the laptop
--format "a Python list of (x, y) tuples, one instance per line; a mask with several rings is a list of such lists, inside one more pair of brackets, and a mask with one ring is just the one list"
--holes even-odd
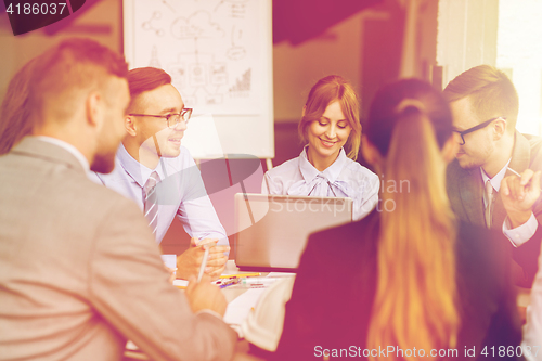
[(352, 86), (338, 75), (330, 75), (317, 81), (305, 103), (305, 116), (299, 121), (298, 133), (302, 142), (308, 142), (307, 128), (322, 117), (325, 108), (338, 101), (340, 109), (352, 128), (345, 144), (347, 156), (358, 158), (361, 143), (360, 102)]

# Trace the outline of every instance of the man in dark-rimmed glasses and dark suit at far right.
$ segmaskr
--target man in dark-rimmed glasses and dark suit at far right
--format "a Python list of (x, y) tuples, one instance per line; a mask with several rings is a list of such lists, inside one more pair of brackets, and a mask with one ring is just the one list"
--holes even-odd
[(499, 191), (513, 171), (542, 169), (542, 139), (516, 130), (516, 89), (492, 66), (476, 66), (459, 75), (444, 89), (444, 96), (461, 144), (448, 167), (452, 208), (462, 220), (502, 230), (522, 268), (520, 283), (530, 285), (538, 268), (541, 240), (534, 234), (542, 222), (542, 202), (533, 204)]

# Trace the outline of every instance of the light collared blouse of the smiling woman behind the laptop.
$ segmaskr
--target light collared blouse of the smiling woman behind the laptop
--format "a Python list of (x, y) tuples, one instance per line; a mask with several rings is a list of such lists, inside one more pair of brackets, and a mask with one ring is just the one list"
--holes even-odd
[(349, 197), (353, 201), (353, 220), (360, 220), (378, 203), (378, 176), (346, 156), (341, 149), (335, 162), (319, 171), (307, 159), (306, 149), (294, 159), (269, 170), (261, 193)]

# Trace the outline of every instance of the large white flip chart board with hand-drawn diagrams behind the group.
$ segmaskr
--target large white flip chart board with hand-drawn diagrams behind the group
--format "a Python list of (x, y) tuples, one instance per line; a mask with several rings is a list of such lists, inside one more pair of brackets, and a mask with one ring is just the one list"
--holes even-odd
[(271, 0), (124, 0), (130, 68), (171, 75), (195, 158), (274, 157)]

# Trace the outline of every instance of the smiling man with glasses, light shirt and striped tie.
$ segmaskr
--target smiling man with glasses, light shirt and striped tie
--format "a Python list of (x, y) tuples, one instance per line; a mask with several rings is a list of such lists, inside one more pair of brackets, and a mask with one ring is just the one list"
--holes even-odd
[(179, 218), (192, 240), (190, 248), (177, 258), (177, 275), (188, 279), (197, 273), (203, 245), (207, 244), (212, 247), (206, 273), (217, 279), (230, 247), (199, 170), (181, 146), (192, 109), (184, 107), (171, 77), (162, 69), (132, 69), (128, 83), (131, 101), (125, 118), (127, 136), (118, 149), (115, 170), (95, 176), (140, 206), (157, 243)]

